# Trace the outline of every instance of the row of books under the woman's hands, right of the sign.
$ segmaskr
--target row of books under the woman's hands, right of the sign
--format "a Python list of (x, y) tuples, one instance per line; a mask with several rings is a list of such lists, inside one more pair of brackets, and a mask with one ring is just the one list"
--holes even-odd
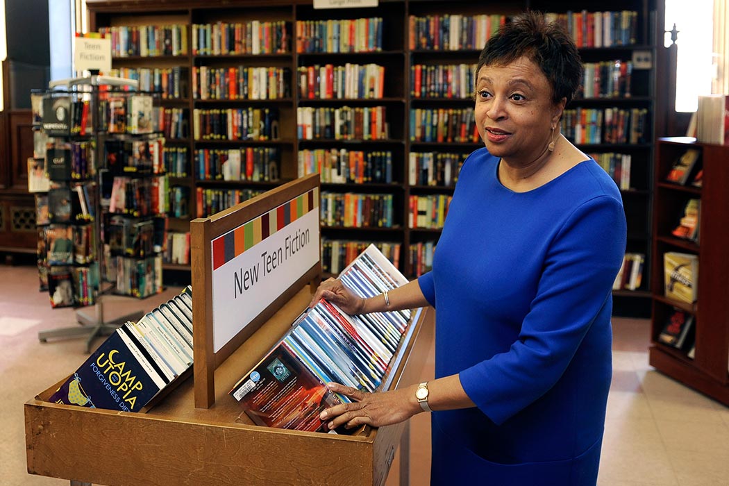
[[(360, 297), (373, 297), (408, 281), (374, 245), (338, 278)], [(410, 310), (347, 315), (321, 299), (238, 380), (230, 395), (257, 425), (334, 432), (319, 413), (350, 400), (333, 393), (327, 383), (366, 392), (383, 388), (409, 322)]]

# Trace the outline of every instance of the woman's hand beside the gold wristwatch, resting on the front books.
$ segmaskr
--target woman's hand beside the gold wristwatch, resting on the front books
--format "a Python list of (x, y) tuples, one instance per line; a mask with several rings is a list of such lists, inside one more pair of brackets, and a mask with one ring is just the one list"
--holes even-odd
[(415, 389), (412, 387), (365, 393), (339, 383), (328, 383), (327, 386), (332, 391), (354, 400), (352, 403), (335, 405), (321, 412), (319, 418), (327, 422), (331, 429), (341, 425), (345, 425), (345, 428), (355, 428), (364, 424), (373, 427), (389, 426), (408, 420), (422, 411), (415, 399)]

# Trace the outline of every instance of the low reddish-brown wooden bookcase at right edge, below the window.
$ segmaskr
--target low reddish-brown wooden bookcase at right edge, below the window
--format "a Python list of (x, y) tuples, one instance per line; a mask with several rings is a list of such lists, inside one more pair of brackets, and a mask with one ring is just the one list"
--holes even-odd
[[(702, 144), (693, 138), (660, 138), (655, 167), (654, 191), (654, 264), (652, 268), (650, 364), (660, 372), (729, 404), (729, 147)], [(703, 183), (682, 186), (666, 182), (674, 162), (687, 149), (701, 152)], [(677, 226), (687, 200), (701, 200), (698, 243), (676, 238), (671, 230)], [(668, 299), (664, 292), (663, 254), (678, 251), (698, 255), (698, 295), (687, 304)], [(677, 307), (694, 316), (695, 354), (687, 356), (659, 342), (660, 334), (671, 310)]]

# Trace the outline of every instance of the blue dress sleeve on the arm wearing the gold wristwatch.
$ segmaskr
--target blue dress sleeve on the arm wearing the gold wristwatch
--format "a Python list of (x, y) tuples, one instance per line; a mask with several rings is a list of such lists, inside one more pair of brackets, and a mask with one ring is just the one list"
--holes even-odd
[(464, 391), (494, 423), (539, 399), (564, 374), (612, 292), (624, 252), (625, 212), (615, 197), (588, 200), (566, 219), (518, 340), (459, 374)]

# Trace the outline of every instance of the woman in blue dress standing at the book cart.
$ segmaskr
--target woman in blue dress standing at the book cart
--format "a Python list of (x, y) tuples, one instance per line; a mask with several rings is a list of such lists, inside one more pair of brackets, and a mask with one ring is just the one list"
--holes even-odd
[(625, 251), (615, 183), (560, 133), (580, 85), (572, 39), (515, 17), (477, 64), (475, 121), (433, 270), (381, 296), (327, 280), (350, 313), (436, 309), (435, 380), (322, 412), (330, 427), (432, 411), (432, 485), (595, 485), (610, 385), (612, 283)]

